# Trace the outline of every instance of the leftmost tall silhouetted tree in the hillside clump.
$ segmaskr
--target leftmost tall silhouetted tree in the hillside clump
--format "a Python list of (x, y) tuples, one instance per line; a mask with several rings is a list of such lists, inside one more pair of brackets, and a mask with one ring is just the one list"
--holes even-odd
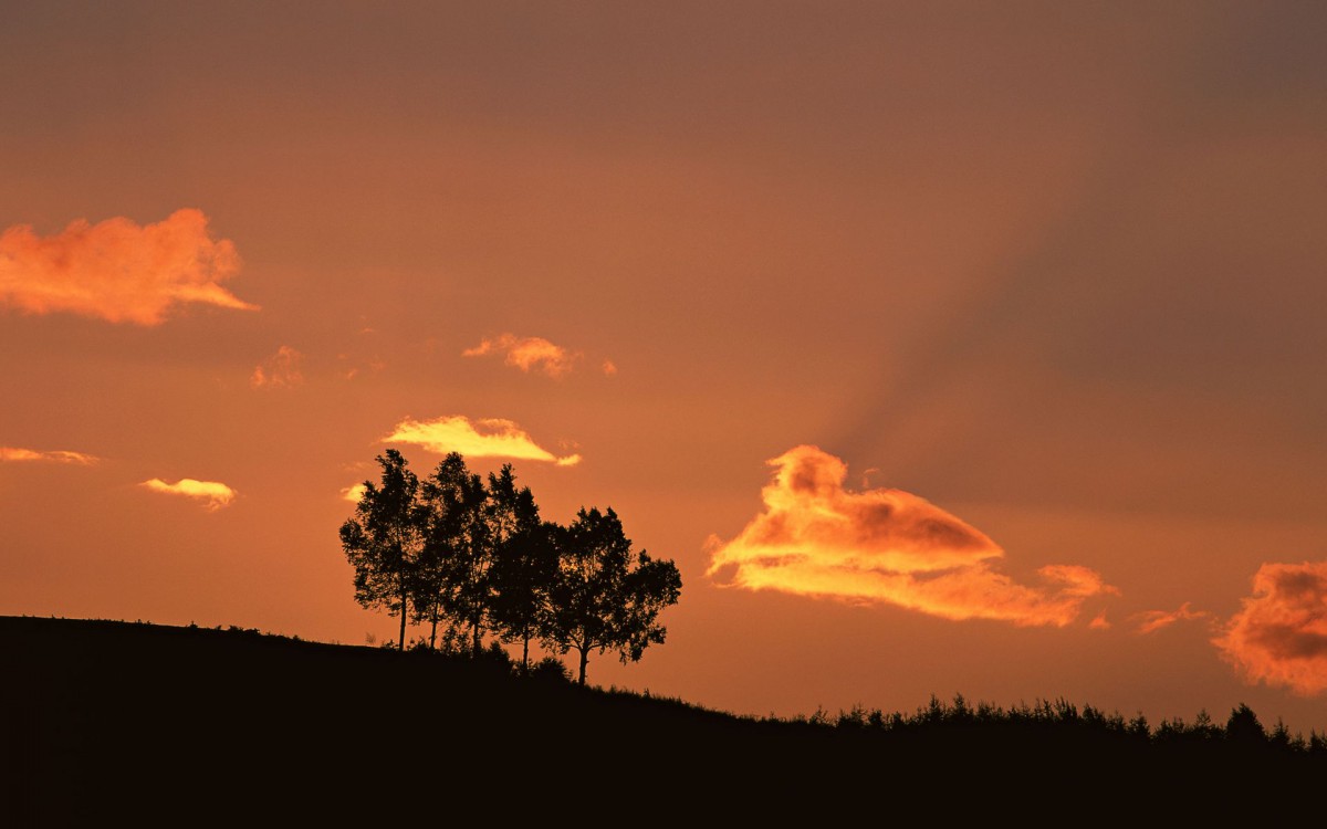
[(397, 450), (378, 455), (377, 462), (382, 481), (364, 481), (354, 516), (341, 525), (341, 546), (354, 568), (354, 600), (364, 607), (385, 607), (399, 615), (397, 647), (405, 650), (410, 597), (423, 548), (419, 479)]

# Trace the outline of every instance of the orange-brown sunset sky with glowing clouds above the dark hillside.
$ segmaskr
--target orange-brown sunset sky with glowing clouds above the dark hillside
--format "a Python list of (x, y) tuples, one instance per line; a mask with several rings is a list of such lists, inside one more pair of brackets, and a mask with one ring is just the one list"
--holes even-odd
[(1327, 11), (42, 3), (0, 613), (362, 645), (374, 458), (671, 558), (596, 684), (1327, 732)]

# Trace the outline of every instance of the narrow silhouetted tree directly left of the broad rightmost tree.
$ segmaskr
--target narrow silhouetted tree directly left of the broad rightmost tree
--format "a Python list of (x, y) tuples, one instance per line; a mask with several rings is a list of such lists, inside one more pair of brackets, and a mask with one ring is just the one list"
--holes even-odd
[(488, 570), (491, 621), (504, 642), (520, 642), (522, 672), (529, 642), (548, 623), (549, 589), (557, 577), (556, 525), (539, 520), (529, 488), (516, 489), (511, 467), (488, 476), (488, 515), (495, 556)]

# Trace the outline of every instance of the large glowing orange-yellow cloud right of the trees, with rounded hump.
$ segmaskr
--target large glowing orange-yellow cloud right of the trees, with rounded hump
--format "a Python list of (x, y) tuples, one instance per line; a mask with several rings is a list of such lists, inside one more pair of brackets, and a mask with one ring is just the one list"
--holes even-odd
[(731, 541), (711, 536), (709, 573), (751, 590), (888, 602), (947, 619), (1063, 626), (1083, 601), (1115, 593), (1084, 566), (1050, 565), (1042, 584), (994, 569), (1005, 552), (929, 501), (900, 489), (845, 489), (848, 467), (813, 446), (768, 462), (764, 512)]

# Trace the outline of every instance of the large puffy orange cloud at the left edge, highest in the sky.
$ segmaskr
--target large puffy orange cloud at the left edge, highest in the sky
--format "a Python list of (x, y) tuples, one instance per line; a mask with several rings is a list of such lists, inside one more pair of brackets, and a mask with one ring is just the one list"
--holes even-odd
[(0, 233), (0, 306), (137, 325), (158, 325), (186, 302), (256, 310), (220, 287), (239, 267), (235, 245), (214, 240), (198, 210), (142, 227), (80, 219), (46, 237), (16, 224)]

